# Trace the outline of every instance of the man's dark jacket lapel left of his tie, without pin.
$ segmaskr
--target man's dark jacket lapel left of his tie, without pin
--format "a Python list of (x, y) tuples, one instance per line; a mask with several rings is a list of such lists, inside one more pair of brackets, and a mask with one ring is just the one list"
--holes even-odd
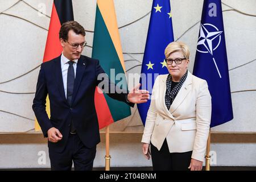
[(56, 83), (57, 87), (60, 92), (60, 97), (63, 98), (65, 103), (68, 104), (67, 99), (65, 97), (65, 91), (64, 91), (64, 85), (63, 85), (63, 77), (62, 77), (62, 72), (61, 72), (61, 63), (60, 63), (60, 57), (57, 57), (55, 60), (55, 77), (56, 77)]

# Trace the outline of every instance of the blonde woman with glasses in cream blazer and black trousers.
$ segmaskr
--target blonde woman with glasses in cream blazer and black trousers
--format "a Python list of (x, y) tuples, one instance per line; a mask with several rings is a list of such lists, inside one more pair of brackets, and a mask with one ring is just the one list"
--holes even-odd
[(212, 111), (207, 81), (188, 71), (186, 44), (172, 42), (164, 54), (170, 74), (155, 80), (142, 136), (143, 154), (147, 159), (152, 156), (154, 170), (201, 170)]

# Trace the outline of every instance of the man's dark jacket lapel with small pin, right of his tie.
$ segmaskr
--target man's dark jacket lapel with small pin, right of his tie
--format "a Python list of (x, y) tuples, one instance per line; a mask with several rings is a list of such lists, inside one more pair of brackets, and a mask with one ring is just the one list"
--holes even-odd
[(75, 101), (77, 91), (79, 90), (79, 86), (81, 84), (82, 76), (84, 75), (84, 71), (86, 68), (86, 61), (84, 57), (80, 57), (80, 59), (77, 61), (77, 67), (76, 67), (76, 78), (75, 78), (75, 85), (73, 89), (73, 97), (72, 97), (72, 104)]

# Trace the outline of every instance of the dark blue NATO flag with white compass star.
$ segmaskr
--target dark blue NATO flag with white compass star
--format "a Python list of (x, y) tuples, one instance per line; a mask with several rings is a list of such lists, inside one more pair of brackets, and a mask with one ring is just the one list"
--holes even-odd
[(207, 80), (212, 96), (210, 127), (233, 119), (221, 0), (205, 0), (193, 75)]

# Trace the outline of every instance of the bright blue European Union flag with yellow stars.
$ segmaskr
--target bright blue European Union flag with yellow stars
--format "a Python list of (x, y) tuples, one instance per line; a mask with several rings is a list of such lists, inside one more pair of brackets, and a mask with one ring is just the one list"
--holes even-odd
[[(172, 31), (172, 14), (170, 0), (154, 0), (151, 9), (150, 24), (147, 32), (147, 42), (142, 61), (141, 80), (142, 89), (152, 91), (157, 75), (167, 74), (164, 61), (164, 49), (174, 41)], [(150, 100), (138, 104), (139, 114), (145, 125)]]

